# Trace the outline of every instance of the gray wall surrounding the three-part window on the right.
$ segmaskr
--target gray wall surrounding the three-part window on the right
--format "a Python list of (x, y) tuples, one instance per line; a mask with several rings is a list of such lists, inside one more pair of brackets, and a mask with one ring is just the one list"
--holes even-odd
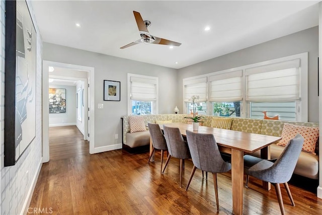
[(223, 69), (248, 65), (279, 57), (308, 52), (308, 121), (318, 122), (317, 57), (318, 27), (277, 38), (259, 45), (235, 51), (178, 69), (178, 108), (183, 110), (182, 79), (213, 73)]

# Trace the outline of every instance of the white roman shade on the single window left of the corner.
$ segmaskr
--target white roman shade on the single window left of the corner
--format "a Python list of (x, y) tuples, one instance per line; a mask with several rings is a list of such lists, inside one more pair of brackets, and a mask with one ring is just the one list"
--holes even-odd
[(156, 77), (130, 77), (130, 98), (135, 101), (155, 101), (157, 99)]

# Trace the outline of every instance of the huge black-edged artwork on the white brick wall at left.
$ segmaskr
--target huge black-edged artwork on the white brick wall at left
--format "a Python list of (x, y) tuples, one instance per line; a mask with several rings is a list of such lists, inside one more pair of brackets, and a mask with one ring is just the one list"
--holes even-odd
[(6, 2), (5, 166), (36, 136), (37, 32), (25, 1)]

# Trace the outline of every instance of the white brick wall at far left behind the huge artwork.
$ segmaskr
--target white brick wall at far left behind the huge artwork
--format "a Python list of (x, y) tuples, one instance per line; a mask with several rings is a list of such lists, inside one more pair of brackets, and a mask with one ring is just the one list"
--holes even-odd
[(33, 187), (36, 183), (41, 164), (42, 164), (42, 39), (32, 7), (27, 1), (31, 11), (33, 23), (37, 32), (37, 65), (36, 65), (36, 138), (18, 160), (15, 166), (4, 167), (4, 88), (5, 88), (5, 1), (0, 1), (1, 33), (0, 33), (0, 168), (1, 168), (1, 214), (21, 214), (26, 213), (29, 207)]

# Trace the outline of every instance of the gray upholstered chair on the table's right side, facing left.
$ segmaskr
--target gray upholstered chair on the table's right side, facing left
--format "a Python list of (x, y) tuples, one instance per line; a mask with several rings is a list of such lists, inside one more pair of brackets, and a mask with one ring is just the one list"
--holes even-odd
[(284, 205), (280, 183), (283, 183), (293, 206), (295, 206), (288, 181), (294, 172), (295, 165), (303, 147), (304, 139), (300, 134), (291, 139), (275, 162), (263, 160), (251, 155), (244, 156), (244, 172), (247, 175), (246, 187), (249, 176), (263, 181), (271, 182), (276, 190), (281, 213), (284, 214)]

